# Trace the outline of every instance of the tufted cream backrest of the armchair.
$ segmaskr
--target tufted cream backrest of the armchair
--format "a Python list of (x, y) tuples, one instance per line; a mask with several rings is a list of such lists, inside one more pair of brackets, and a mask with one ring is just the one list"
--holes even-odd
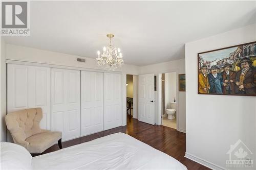
[(41, 119), (41, 108), (19, 110), (5, 116), (7, 129), (11, 132), (14, 142), (41, 133), (39, 126)]

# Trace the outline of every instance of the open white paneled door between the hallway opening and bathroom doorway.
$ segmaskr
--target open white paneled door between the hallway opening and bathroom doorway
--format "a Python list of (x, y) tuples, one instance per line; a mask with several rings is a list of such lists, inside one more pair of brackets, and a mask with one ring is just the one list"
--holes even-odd
[(155, 125), (154, 74), (139, 75), (139, 120)]

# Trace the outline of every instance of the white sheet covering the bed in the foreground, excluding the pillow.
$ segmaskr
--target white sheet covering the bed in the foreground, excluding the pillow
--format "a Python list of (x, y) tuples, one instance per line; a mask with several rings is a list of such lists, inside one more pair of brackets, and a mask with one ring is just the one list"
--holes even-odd
[(127, 134), (115, 133), (32, 158), (33, 169), (187, 169)]

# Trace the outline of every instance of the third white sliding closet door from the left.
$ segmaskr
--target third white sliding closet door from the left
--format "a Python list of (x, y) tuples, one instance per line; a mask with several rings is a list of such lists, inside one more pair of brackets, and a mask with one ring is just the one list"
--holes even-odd
[(103, 73), (81, 71), (81, 135), (103, 131)]

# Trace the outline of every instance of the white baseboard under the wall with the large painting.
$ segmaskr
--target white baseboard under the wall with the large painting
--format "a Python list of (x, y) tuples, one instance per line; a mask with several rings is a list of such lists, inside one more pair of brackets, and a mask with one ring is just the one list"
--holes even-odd
[(190, 160), (193, 160), (193, 161), (195, 161), (195, 162), (197, 162), (197, 163), (200, 163), (200, 164), (202, 164), (202, 165), (204, 165), (204, 166), (206, 166), (206, 167), (208, 167), (208, 168), (211, 168), (211, 169), (215, 169), (215, 170), (226, 170), (226, 168), (224, 168), (224, 167), (221, 167), (221, 166), (219, 166), (219, 165), (216, 165), (216, 164), (214, 164), (214, 163), (211, 163), (211, 162), (209, 162), (209, 161), (206, 161), (206, 160), (204, 160), (204, 159), (202, 159), (202, 158), (199, 158), (199, 157), (197, 157), (197, 156), (194, 156), (194, 155), (191, 155), (191, 154), (189, 154), (189, 153), (185, 153), (185, 157), (186, 158), (188, 158), (188, 159), (190, 159)]

